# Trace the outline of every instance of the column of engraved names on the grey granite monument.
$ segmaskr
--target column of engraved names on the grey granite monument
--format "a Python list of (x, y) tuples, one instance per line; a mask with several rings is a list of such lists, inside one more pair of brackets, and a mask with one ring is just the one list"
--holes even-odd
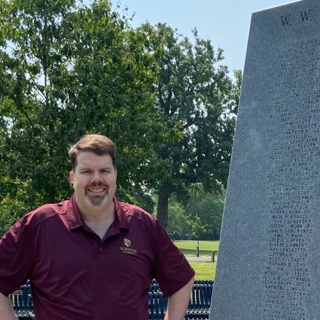
[(261, 285), (262, 319), (306, 320), (312, 286), (312, 199), (320, 155), (320, 38), (282, 45), (266, 134), (270, 208), (265, 229), (267, 256)]

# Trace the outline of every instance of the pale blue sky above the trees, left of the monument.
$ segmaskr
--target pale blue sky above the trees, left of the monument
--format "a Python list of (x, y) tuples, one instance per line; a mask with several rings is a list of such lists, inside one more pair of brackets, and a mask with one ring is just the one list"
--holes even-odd
[[(198, 29), (202, 39), (211, 40), (214, 48), (224, 50), (225, 60), (232, 70), (243, 70), (250, 29), (251, 14), (260, 10), (296, 1), (289, 0), (120, 0), (129, 15), (135, 13), (131, 26), (148, 21), (166, 22), (173, 29), (192, 39)], [(113, 0), (115, 3), (115, 0)]]

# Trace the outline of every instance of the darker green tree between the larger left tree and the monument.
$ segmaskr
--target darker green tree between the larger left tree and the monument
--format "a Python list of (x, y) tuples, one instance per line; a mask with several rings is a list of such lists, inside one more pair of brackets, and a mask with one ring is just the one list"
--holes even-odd
[(227, 67), (219, 65), (222, 49), (214, 51), (196, 30), (194, 44), (166, 24), (144, 24), (141, 30), (153, 40), (150, 52), (162, 49), (157, 61), (161, 72), (152, 87), (156, 109), (163, 122), (179, 131), (179, 138), (157, 148), (166, 163), (157, 187), (157, 218), (167, 227), (171, 195), (183, 202), (192, 184), (217, 192), (226, 186), (240, 82), (233, 84)]

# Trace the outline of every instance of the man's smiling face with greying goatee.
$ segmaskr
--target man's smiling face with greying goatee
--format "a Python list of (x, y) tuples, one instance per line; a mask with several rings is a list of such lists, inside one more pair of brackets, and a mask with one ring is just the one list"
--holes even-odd
[(77, 167), (70, 172), (79, 209), (107, 208), (113, 203), (117, 171), (109, 154), (79, 152)]

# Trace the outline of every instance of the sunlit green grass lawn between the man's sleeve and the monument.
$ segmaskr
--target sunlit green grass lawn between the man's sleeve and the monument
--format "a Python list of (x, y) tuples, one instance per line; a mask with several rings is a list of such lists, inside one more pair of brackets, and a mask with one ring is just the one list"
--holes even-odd
[[(176, 240), (175, 245), (186, 257), (195, 257), (196, 240)], [(218, 251), (219, 241), (199, 241), (200, 257), (211, 257), (211, 251)], [(197, 280), (213, 280), (216, 276), (216, 262), (190, 262)]]

